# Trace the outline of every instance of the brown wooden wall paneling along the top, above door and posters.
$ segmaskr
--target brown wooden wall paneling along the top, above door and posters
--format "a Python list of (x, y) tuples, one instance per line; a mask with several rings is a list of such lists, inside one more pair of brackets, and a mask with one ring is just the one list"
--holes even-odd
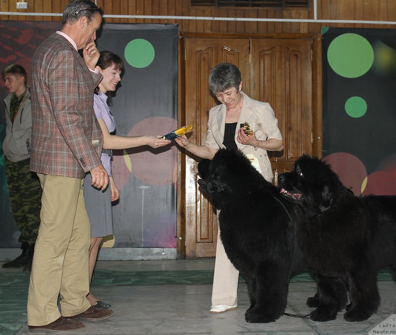
[[(3, 12), (16, 11), (17, 0), (0, 1)], [(27, 0), (28, 9), (18, 9), (19, 16), (1, 15), (1, 20), (61, 21), (59, 16), (26, 16), (24, 12), (62, 12), (69, 0)], [(313, 4), (307, 9), (253, 9), (237, 7), (191, 6), (189, 0), (96, 0), (105, 14), (146, 14), (176, 16), (225, 16), (225, 17), (268, 17), (268, 18), (313, 18)], [(180, 15), (180, 8), (183, 8)], [(298, 14), (297, 14), (298, 13)], [(318, 19), (381, 20), (396, 21), (396, 0), (317, 0)], [(113, 23), (165, 23), (163, 19), (106, 18)], [(239, 32), (239, 33), (320, 33), (322, 25), (332, 27), (387, 28), (395, 25), (375, 25), (359, 23), (295, 23), (295, 22), (249, 22), (249, 21), (210, 21), (175, 20), (183, 32)], [(186, 22), (188, 21), (188, 22)]]

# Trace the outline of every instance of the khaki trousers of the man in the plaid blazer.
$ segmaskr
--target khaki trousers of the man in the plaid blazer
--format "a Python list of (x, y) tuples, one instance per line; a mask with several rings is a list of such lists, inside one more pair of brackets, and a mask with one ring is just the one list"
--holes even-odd
[(91, 307), (86, 298), (91, 227), (85, 209), (84, 179), (38, 176), (43, 196), (29, 284), (30, 326), (47, 325), (60, 315), (77, 315)]

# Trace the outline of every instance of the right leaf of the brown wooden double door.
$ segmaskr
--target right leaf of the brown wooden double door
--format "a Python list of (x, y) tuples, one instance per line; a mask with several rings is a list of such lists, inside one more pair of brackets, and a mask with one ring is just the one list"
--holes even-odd
[(271, 105), (285, 144), (268, 153), (276, 183), (278, 173), (312, 152), (311, 40), (252, 39), (251, 54), (251, 97)]

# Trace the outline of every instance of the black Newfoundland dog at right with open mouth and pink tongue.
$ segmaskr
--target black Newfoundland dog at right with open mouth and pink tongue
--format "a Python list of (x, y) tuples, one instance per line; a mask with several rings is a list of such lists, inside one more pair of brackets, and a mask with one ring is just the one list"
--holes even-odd
[(307, 300), (316, 307), (311, 320), (334, 320), (345, 307), (345, 320), (368, 319), (380, 304), (379, 269), (395, 270), (396, 196), (356, 197), (329, 165), (306, 155), (278, 181), (307, 217), (297, 222), (297, 239), (317, 281), (317, 299)]

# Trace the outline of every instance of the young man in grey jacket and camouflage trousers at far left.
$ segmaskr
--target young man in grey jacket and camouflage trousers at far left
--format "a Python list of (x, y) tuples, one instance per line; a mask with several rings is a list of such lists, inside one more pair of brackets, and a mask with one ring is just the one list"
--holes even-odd
[(2, 71), (8, 95), (5, 104), (5, 138), (2, 145), (11, 211), (21, 234), (22, 254), (3, 268), (32, 268), (34, 245), (40, 226), (41, 193), (39, 178), (31, 172), (30, 143), (32, 109), (27, 74), (23, 66), (12, 64)]

